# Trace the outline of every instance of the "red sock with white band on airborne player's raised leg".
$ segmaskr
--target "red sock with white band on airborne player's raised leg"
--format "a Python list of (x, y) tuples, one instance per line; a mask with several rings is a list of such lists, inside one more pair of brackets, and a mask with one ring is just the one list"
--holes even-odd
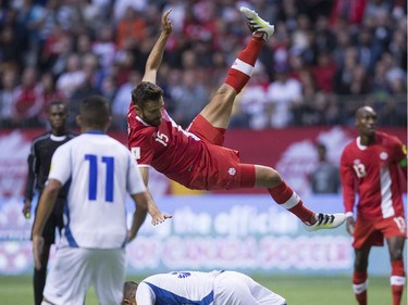
[(237, 93), (243, 90), (252, 75), (255, 63), (262, 50), (264, 40), (262, 37), (252, 36), (248, 46), (239, 53), (234, 64), (228, 69), (225, 84), (235, 89)]

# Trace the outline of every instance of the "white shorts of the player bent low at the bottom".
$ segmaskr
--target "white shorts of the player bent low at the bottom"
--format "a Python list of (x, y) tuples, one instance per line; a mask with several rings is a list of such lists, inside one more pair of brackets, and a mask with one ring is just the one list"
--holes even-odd
[(214, 279), (214, 305), (286, 304), (281, 295), (235, 271), (224, 271)]

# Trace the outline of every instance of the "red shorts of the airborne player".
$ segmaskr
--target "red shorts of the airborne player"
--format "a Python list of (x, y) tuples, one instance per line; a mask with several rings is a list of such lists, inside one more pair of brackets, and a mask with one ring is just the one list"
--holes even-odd
[(255, 166), (240, 163), (237, 151), (222, 147), (224, 129), (213, 127), (199, 114), (187, 130), (201, 139), (203, 152), (200, 164), (186, 187), (211, 191), (255, 186)]

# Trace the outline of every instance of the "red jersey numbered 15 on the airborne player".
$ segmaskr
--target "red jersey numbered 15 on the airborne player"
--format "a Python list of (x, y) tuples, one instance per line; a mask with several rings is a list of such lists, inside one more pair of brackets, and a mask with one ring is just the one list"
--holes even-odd
[(128, 148), (139, 165), (151, 165), (170, 179), (188, 186), (195, 177), (203, 145), (201, 140), (184, 130), (162, 111), (162, 123), (151, 126), (129, 106)]

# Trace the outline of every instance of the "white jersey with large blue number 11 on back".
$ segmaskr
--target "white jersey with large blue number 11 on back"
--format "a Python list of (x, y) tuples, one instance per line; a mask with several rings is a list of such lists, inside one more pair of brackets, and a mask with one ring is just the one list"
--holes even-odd
[(62, 245), (124, 246), (127, 193), (146, 190), (136, 166), (125, 145), (100, 131), (85, 132), (57, 149), (48, 179), (70, 183)]

